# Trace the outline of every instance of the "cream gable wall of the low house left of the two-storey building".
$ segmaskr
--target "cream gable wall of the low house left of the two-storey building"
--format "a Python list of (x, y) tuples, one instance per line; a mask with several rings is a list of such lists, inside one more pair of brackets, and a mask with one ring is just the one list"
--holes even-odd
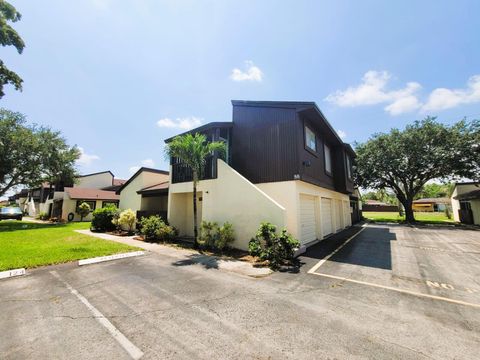
[(120, 209), (132, 209), (133, 211), (142, 210), (142, 195), (137, 194), (137, 191), (168, 180), (169, 175), (142, 171), (132, 182), (122, 189), (120, 193)]

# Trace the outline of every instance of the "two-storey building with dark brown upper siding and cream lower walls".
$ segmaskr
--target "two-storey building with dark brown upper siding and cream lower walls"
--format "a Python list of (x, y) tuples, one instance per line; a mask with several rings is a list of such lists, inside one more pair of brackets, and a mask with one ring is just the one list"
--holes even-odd
[[(233, 224), (234, 246), (248, 248), (263, 221), (286, 227), (305, 248), (352, 224), (352, 163), (345, 144), (313, 102), (232, 101), (233, 121), (191, 133), (224, 141), (224, 160), (213, 154), (199, 183), (199, 223)], [(168, 143), (171, 139), (167, 139)], [(171, 159), (168, 220), (193, 235), (192, 174)], [(359, 211), (359, 206), (357, 210)]]

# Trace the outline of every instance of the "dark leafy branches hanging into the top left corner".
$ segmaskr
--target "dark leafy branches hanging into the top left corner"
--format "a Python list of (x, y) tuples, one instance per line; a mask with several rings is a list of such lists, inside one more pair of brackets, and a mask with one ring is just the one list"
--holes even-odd
[[(23, 52), (25, 43), (18, 33), (8, 24), (9, 21), (17, 22), (22, 15), (8, 2), (0, 0), (0, 44), (2, 46), (13, 45), (19, 54)], [(22, 90), (23, 80), (15, 72), (9, 70), (7, 66), (0, 60), (0, 98), (5, 95), (3, 92), (4, 85), (11, 84), (15, 90)]]

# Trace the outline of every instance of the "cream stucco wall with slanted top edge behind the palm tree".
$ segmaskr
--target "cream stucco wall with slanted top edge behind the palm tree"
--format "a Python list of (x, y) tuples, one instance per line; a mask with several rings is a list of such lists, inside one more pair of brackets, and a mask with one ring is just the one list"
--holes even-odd
[[(232, 223), (236, 248), (247, 250), (263, 221), (279, 229), (286, 225), (285, 208), (222, 160), (218, 160), (217, 179), (200, 181), (198, 191), (199, 224), (202, 220)], [(170, 184), (168, 221), (180, 235), (193, 235), (192, 201), (192, 182)]]

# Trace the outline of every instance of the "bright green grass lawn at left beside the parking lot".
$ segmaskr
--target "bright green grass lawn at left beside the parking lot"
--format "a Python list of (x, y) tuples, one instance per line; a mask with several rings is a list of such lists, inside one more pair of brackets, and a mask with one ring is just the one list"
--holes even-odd
[(89, 222), (51, 225), (0, 221), (0, 271), (138, 250), (74, 231), (89, 227)]

